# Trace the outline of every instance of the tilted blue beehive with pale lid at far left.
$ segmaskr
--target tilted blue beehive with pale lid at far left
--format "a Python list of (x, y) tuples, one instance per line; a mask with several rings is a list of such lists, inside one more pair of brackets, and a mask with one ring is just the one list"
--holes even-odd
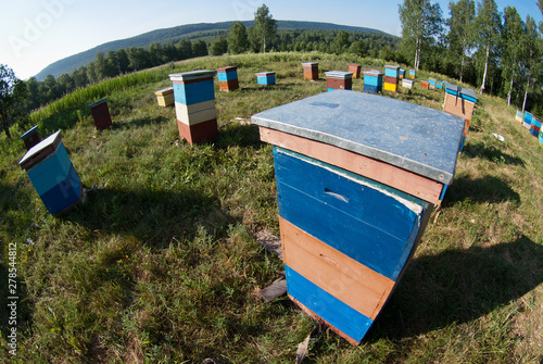
[(52, 215), (60, 215), (79, 203), (83, 185), (61, 140), (61, 130), (30, 148), (18, 165), (26, 171)]

